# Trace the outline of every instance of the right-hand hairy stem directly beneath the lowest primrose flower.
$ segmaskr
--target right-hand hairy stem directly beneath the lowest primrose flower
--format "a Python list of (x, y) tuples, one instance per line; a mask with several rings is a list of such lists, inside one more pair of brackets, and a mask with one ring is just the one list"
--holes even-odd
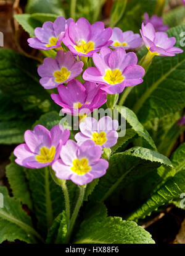
[(68, 226), (68, 231), (67, 231), (67, 235), (66, 235), (66, 242), (70, 242), (70, 237), (72, 235), (72, 231), (73, 231), (73, 227), (75, 225), (75, 221), (76, 221), (76, 218), (78, 216), (78, 212), (80, 210), (80, 207), (83, 203), (83, 198), (84, 198), (84, 192), (85, 192), (85, 189), (86, 189), (86, 185), (83, 185), (83, 186), (78, 186), (80, 188), (80, 193), (79, 193), (79, 197), (78, 197), (78, 200), (76, 202), (76, 206), (75, 206), (75, 210), (73, 211), (73, 214), (72, 214), (72, 218), (70, 219), (70, 225)]

